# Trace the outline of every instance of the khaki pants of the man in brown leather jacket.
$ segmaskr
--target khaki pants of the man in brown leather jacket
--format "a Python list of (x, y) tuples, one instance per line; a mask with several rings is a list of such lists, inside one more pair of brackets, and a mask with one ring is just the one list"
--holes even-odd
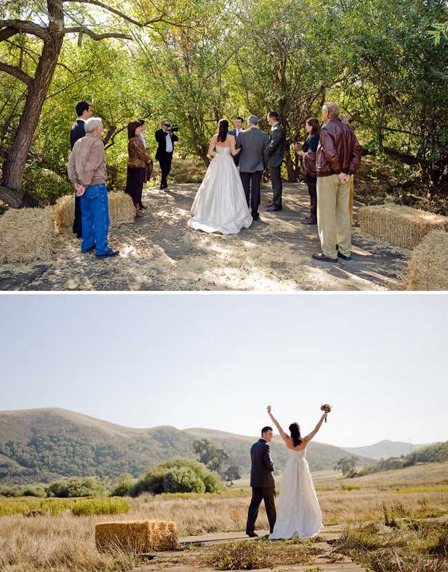
[(342, 185), (336, 174), (317, 178), (317, 225), (322, 252), (328, 258), (338, 258), (338, 250), (350, 256), (349, 198), (350, 181)]

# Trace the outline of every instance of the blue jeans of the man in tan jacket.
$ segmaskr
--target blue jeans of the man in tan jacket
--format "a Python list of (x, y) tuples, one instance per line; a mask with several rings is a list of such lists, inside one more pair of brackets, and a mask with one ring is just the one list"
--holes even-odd
[(81, 250), (92, 248), (96, 242), (96, 254), (108, 252), (109, 207), (108, 191), (104, 184), (90, 185), (81, 195), (83, 242)]

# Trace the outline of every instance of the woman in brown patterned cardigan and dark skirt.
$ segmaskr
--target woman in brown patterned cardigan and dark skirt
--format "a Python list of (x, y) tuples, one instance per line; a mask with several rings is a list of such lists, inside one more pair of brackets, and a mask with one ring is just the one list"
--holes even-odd
[(142, 130), (139, 121), (128, 123), (128, 176), (126, 177), (125, 193), (132, 196), (135, 207), (135, 216), (145, 216), (141, 210), (141, 192), (147, 174), (147, 164), (151, 161), (149, 153), (145, 152), (143, 141), (140, 138)]

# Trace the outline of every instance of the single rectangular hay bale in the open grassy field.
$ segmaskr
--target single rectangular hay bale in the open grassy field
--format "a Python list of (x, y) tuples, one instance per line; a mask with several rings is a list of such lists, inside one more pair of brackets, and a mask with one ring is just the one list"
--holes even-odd
[(172, 521), (128, 520), (95, 524), (95, 544), (100, 551), (121, 549), (145, 553), (174, 549), (177, 525)]

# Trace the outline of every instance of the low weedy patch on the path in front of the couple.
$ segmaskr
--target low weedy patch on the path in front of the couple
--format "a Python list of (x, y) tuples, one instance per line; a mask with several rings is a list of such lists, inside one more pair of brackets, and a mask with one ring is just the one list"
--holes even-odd
[(287, 564), (312, 564), (319, 554), (313, 540), (244, 540), (216, 544), (205, 551), (203, 564), (217, 570), (258, 570)]

